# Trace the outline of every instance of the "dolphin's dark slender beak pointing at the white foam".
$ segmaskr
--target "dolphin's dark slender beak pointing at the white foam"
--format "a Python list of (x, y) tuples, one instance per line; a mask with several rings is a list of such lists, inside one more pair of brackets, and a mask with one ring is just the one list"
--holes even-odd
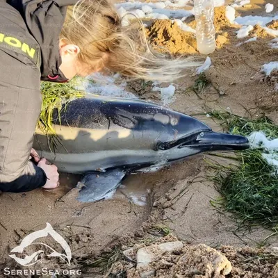
[(209, 131), (197, 134), (193, 140), (181, 143), (179, 147), (205, 150), (240, 150), (248, 149), (250, 145), (246, 137)]

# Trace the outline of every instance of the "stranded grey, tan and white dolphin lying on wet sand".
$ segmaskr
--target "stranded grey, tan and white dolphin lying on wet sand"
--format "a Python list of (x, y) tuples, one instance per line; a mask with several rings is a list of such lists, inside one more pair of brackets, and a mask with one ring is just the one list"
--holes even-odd
[(170, 108), (138, 99), (86, 96), (54, 112), (59, 142), (36, 131), (33, 147), (60, 172), (84, 174), (80, 202), (115, 192), (127, 174), (163, 167), (206, 151), (249, 147), (247, 138), (216, 133)]

